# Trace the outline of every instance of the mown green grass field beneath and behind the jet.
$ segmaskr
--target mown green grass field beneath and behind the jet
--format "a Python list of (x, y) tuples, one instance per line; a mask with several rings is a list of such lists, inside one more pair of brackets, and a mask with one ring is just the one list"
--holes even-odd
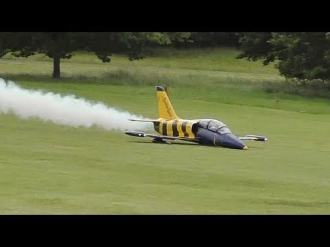
[(111, 64), (79, 53), (62, 62), (61, 80), (49, 78), (52, 63), (42, 56), (0, 60), (0, 77), (23, 88), (151, 118), (153, 86), (169, 84), (179, 117), (212, 117), (236, 134), (269, 138), (246, 141), (247, 151), (161, 145), (0, 115), (0, 213), (329, 214), (329, 99), (263, 92), (259, 84), (283, 78), (261, 63), (236, 62), (237, 52), (160, 50), (133, 63), (114, 56)]

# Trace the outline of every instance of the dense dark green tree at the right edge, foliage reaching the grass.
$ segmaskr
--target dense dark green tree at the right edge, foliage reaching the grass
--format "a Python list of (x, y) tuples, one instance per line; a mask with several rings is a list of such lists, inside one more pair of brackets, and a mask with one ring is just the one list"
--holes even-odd
[(330, 34), (325, 32), (248, 33), (237, 58), (277, 61), (286, 78), (330, 80)]

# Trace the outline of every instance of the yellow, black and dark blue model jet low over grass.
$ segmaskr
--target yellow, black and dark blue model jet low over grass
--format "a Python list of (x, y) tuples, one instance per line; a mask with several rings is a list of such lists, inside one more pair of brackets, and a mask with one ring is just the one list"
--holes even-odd
[(162, 86), (157, 89), (158, 119), (129, 119), (131, 121), (153, 122), (155, 130), (160, 134), (146, 134), (140, 131), (126, 131), (134, 137), (151, 137), (154, 143), (168, 143), (166, 140), (181, 140), (199, 143), (201, 145), (215, 145), (224, 148), (247, 150), (242, 140), (267, 141), (266, 137), (259, 135), (245, 135), (236, 137), (230, 128), (216, 119), (181, 119), (177, 117), (170, 99)]

